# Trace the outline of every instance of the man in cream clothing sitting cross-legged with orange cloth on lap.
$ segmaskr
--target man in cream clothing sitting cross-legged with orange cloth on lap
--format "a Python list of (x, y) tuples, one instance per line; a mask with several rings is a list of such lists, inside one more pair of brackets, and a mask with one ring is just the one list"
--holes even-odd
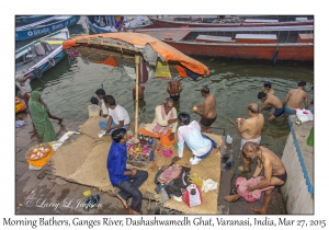
[(167, 97), (162, 105), (156, 107), (154, 122), (147, 124), (145, 128), (140, 128), (138, 133), (152, 138), (160, 138), (162, 146), (170, 147), (174, 143), (177, 125), (177, 111), (173, 107), (173, 101)]

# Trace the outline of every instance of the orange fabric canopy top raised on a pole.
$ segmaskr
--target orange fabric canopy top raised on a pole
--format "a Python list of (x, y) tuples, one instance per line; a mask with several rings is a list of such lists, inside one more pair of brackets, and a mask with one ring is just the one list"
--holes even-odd
[(106, 33), (106, 34), (94, 34), (94, 35), (84, 35), (79, 36), (75, 38), (70, 38), (63, 43), (64, 49), (69, 49), (75, 46), (79, 46), (79, 44), (76, 43), (76, 41), (80, 39), (88, 39), (91, 37), (109, 37), (109, 38), (116, 38), (124, 41), (126, 43), (131, 43), (134, 45), (145, 46), (146, 44), (149, 44), (152, 46), (152, 48), (160, 54), (166, 61), (178, 61), (189, 70), (200, 74), (200, 76), (207, 76), (209, 74), (208, 68), (203, 65), (202, 62), (184, 55), (183, 53), (177, 50), (172, 46), (151, 37), (147, 34), (140, 34), (140, 33), (132, 33), (132, 32), (125, 32), (125, 33)]

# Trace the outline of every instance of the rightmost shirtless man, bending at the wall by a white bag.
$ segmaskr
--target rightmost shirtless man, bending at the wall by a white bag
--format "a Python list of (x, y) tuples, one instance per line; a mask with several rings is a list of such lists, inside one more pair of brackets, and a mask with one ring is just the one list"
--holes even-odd
[(305, 108), (308, 108), (308, 94), (304, 91), (306, 82), (298, 81), (297, 89), (291, 90), (284, 100), (284, 113), (295, 114), (295, 108), (300, 107), (300, 103), (304, 101)]

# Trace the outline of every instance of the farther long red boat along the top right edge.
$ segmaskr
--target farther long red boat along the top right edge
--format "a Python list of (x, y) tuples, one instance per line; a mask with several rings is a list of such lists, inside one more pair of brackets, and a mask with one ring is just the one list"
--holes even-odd
[[(292, 20), (292, 21), (281, 21), (280, 18), (276, 19), (269, 19), (266, 16), (250, 16), (250, 18), (227, 18), (227, 19), (217, 19), (217, 16), (197, 16), (196, 19), (201, 19), (198, 21), (177, 21), (184, 16), (169, 16), (164, 19), (158, 19), (157, 16), (151, 16), (150, 20), (152, 21), (151, 27), (251, 27), (251, 26), (287, 26), (287, 25), (313, 25), (314, 20), (311, 16), (286, 16), (284, 19)], [(186, 20), (190, 16), (185, 16)], [(194, 16), (195, 19), (195, 16)], [(204, 22), (202, 22), (202, 20)]]

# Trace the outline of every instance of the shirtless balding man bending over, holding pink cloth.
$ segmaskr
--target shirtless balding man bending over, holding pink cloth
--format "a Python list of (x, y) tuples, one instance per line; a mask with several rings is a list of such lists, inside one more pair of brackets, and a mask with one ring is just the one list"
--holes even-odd
[[(248, 141), (243, 146), (243, 154), (248, 158), (257, 158), (257, 168), (253, 173), (253, 177), (259, 176), (262, 170), (264, 170), (264, 179), (254, 186), (248, 186), (247, 192), (252, 192), (256, 189), (262, 189), (268, 186), (283, 185), (286, 181), (286, 171), (280, 158), (256, 142)], [(261, 208), (251, 207), (251, 210), (258, 214), (266, 214), (268, 206), (271, 200), (271, 193), (273, 189), (268, 189), (264, 192), (263, 206)], [(236, 202), (241, 196), (239, 194), (225, 196), (226, 202)]]

